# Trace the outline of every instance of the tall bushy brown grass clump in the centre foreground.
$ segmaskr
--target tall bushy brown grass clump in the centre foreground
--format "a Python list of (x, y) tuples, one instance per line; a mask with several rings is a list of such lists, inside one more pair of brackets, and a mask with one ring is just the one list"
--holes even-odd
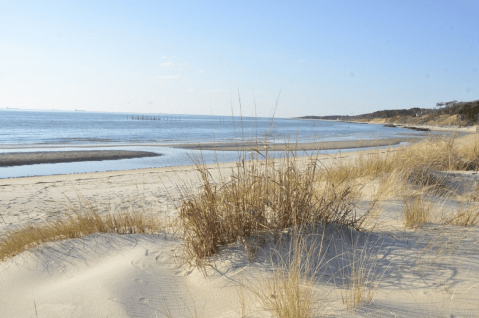
[(335, 223), (361, 228), (367, 213), (355, 214), (352, 184), (318, 175), (313, 158), (300, 165), (290, 153), (264, 157), (238, 162), (222, 183), (197, 164), (199, 194), (184, 193), (178, 206), (187, 259), (198, 265), (222, 245), (291, 227)]

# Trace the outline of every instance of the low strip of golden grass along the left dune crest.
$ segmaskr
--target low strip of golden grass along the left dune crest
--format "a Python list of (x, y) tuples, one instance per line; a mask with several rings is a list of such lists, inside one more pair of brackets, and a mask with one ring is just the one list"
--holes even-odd
[(84, 237), (93, 233), (158, 233), (159, 218), (142, 212), (100, 214), (99, 208), (78, 194), (80, 206), (71, 208), (65, 217), (44, 224), (31, 224), (7, 230), (0, 236), (0, 261), (40, 244)]

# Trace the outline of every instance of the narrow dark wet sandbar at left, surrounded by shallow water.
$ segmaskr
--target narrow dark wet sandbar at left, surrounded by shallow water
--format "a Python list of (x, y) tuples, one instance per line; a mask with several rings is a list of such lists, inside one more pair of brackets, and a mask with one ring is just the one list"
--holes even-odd
[(126, 150), (14, 152), (0, 154), (0, 167), (24, 166), (41, 163), (118, 160), (156, 156), (161, 156), (161, 154), (147, 151)]

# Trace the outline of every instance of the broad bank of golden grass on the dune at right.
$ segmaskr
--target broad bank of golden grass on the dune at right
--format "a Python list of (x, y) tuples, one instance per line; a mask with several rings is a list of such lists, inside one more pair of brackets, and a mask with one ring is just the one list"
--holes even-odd
[[(431, 194), (452, 194), (447, 171), (477, 171), (479, 139), (430, 137), (409, 146), (365, 151), (351, 160), (335, 160), (332, 167), (322, 167), (331, 182), (368, 182), (380, 180), (380, 197), (410, 194), (411, 190)], [(362, 180), (362, 181), (361, 181)]]

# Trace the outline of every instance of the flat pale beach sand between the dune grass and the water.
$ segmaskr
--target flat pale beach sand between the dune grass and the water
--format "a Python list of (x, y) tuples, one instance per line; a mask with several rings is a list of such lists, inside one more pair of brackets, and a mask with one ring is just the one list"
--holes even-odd
[[(358, 152), (347, 152), (339, 156), (321, 155), (327, 164), (336, 158), (347, 160)], [(207, 165), (216, 179), (230, 174), (236, 163)], [(106, 171), (71, 175), (36, 176), (0, 179), (0, 213), (5, 222), (3, 229), (43, 222), (62, 215), (71, 202), (81, 193), (87, 200), (99, 205), (112, 205), (121, 211), (137, 205), (149, 213), (171, 212), (172, 200), (180, 198), (176, 186), (183, 183), (198, 184), (196, 167), (164, 167), (125, 171)]]

